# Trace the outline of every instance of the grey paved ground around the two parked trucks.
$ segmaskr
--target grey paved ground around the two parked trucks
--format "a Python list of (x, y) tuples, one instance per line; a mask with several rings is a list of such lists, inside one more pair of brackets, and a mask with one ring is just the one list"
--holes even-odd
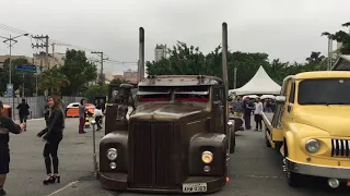
[[(59, 148), (61, 183), (44, 186), (45, 166), (42, 156), (44, 142), (35, 135), (44, 127), (43, 120), (28, 121), (27, 132), (11, 135), (11, 173), (5, 189), (13, 196), (141, 196), (144, 194), (112, 193), (101, 188), (93, 179), (92, 133), (78, 134), (78, 119), (68, 119), (65, 139)], [(103, 132), (97, 133), (102, 138)], [(236, 152), (232, 156), (232, 181), (212, 195), (222, 196), (338, 196), (349, 195), (349, 188), (329, 191), (324, 182), (311, 177), (304, 186), (290, 188), (281, 170), (277, 152), (265, 147), (261, 132), (237, 133)]]

